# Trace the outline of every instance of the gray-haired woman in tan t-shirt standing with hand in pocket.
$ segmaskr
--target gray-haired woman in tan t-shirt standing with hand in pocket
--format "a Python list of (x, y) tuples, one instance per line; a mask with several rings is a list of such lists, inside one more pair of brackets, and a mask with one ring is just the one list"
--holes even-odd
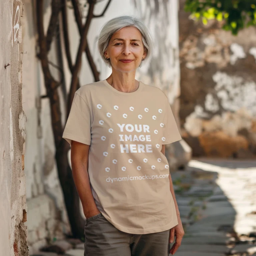
[(98, 48), (112, 74), (76, 91), (63, 133), (86, 217), (84, 255), (174, 254), (184, 231), (165, 145), (181, 136), (165, 94), (135, 80), (151, 37), (121, 16), (102, 28)]

